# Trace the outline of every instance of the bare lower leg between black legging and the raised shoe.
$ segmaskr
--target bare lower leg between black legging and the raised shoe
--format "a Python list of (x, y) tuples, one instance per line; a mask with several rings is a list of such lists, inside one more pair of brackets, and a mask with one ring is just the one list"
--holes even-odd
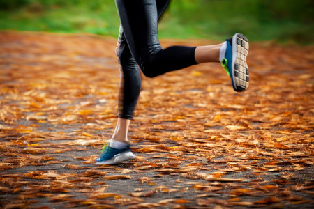
[(208, 62), (219, 62), (219, 52), (222, 45), (223, 44), (221, 43), (219, 45), (196, 47), (195, 61), (199, 64)]

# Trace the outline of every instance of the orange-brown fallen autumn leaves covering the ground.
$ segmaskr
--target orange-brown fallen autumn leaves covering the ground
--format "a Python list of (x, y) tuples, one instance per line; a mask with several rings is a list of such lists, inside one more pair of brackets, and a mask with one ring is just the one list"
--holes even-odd
[(115, 45), (0, 33), (2, 208), (313, 207), (313, 46), (253, 43), (242, 94), (214, 63), (142, 77), (137, 157), (96, 166), (116, 122)]

